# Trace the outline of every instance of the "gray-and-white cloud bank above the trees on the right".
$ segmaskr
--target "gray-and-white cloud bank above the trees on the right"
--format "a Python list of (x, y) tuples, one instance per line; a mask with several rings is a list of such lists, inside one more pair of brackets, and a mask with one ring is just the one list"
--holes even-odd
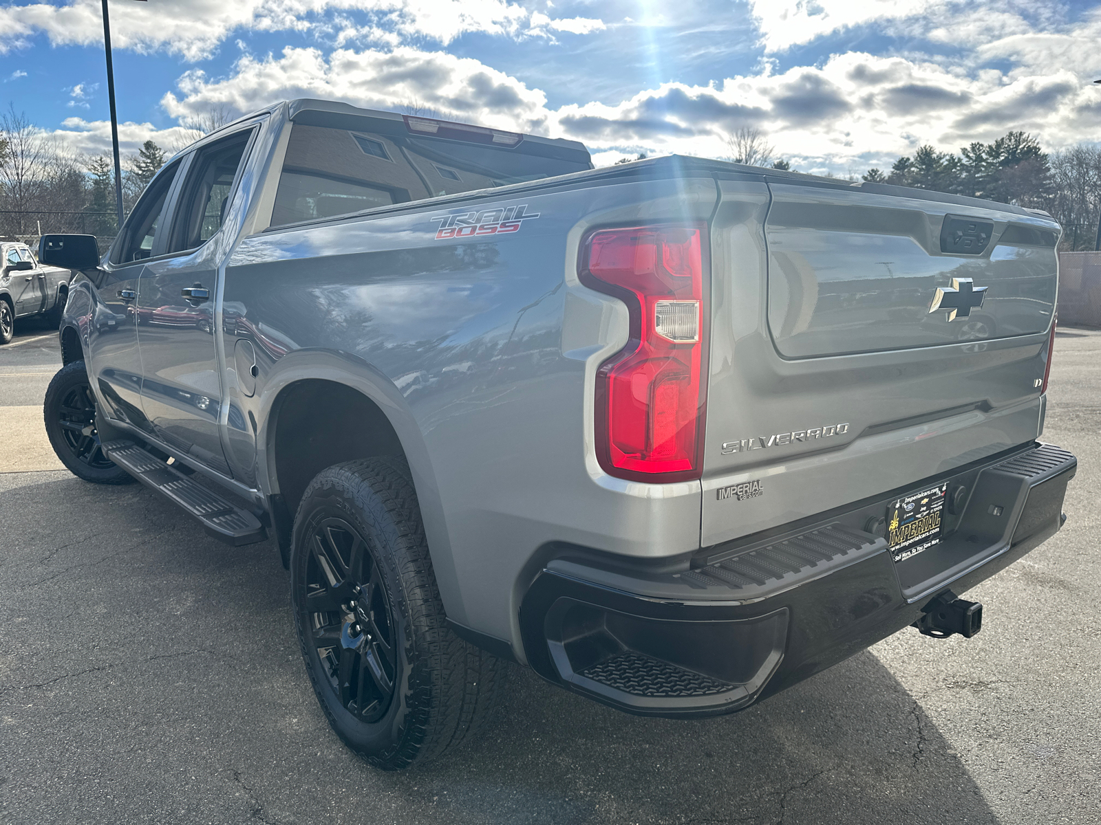
[(595, 150), (704, 156), (726, 154), (724, 131), (754, 125), (798, 168), (862, 172), (924, 143), (956, 152), (1011, 129), (1050, 148), (1095, 140), (1101, 90), (1069, 70), (968, 77), (930, 62), (847, 53), (821, 67), (766, 68), (715, 86), (665, 84), (618, 106), (565, 106), (549, 120)]

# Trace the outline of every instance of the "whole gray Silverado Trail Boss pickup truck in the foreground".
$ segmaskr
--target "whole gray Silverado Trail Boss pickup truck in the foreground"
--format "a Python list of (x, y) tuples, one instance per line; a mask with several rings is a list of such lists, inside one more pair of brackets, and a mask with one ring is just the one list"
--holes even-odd
[(1054, 535), (1059, 227), (981, 200), (296, 100), (173, 158), (77, 271), (81, 479), (273, 536), (336, 733), (400, 768), (502, 660), (739, 711)]

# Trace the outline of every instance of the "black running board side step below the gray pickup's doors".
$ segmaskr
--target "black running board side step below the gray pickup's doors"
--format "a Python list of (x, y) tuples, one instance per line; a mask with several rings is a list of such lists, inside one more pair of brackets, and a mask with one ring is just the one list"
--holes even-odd
[(230, 504), (214, 491), (165, 464), (133, 441), (105, 441), (107, 458), (146, 487), (163, 493), (203, 522), (207, 535), (238, 547), (268, 538), (251, 513)]

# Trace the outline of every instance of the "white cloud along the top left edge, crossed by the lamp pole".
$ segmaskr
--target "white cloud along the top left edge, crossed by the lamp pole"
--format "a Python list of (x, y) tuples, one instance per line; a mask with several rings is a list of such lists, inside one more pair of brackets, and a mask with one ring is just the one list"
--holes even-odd
[[(160, 0), (112, 6), (111, 45), (139, 52), (163, 50), (198, 61), (209, 57), (236, 30), (326, 31), (333, 24), (325, 15), (339, 12), (366, 14), (369, 22), (340, 28), (337, 45), (363, 37), (388, 42), (389, 35), (428, 37), (444, 45), (470, 32), (523, 36), (533, 16), (510, 0)], [(24, 46), (37, 32), (45, 33), (53, 45), (101, 43), (100, 14), (96, 0), (0, 8), (0, 29), (6, 33), (0, 54)], [(549, 20), (549, 25), (579, 34), (603, 28), (600, 21), (584, 18)]]

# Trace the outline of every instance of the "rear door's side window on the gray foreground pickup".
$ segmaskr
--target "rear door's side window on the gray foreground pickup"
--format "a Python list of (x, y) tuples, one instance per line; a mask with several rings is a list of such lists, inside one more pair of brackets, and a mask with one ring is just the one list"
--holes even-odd
[(179, 195), (168, 252), (201, 246), (221, 229), (237, 169), (251, 136), (251, 131), (238, 132), (196, 153)]

